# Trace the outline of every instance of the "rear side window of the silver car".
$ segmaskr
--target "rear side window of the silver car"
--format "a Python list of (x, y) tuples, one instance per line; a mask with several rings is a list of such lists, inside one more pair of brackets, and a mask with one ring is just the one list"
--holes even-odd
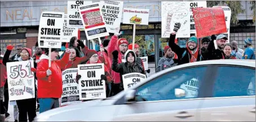
[(213, 87), (213, 97), (255, 95), (255, 69), (219, 67)]

